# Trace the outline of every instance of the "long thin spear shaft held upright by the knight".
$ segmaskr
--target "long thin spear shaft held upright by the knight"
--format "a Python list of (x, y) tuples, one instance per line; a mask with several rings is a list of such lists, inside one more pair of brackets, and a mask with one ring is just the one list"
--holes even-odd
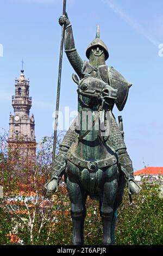
[[(66, 15), (66, 0), (64, 0), (63, 15)], [(56, 102), (56, 111), (55, 111), (52, 167), (53, 167), (53, 162), (54, 162), (54, 159), (55, 159), (55, 150), (56, 150), (56, 144), (57, 144), (58, 111), (59, 111), (59, 98), (60, 98), (60, 84), (61, 84), (62, 56), (63, 56), (63, 48), (64, 48), (64, 38), (65, 38), (65, 25), (62, 25), (61, 43), (60, 43), (60, 57), (59, 57), (59, 71), (58, 71), (57, 102)]]

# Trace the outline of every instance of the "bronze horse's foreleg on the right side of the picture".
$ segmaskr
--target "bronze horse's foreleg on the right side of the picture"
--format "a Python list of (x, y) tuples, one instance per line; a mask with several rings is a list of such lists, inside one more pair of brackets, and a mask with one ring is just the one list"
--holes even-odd
[(101, 216), (103, 221), (103, 245), (111, 245), (112, 220), (114, 218), (114, 203), (117, 194), (117, 180), (105, 182), (101, 201)]

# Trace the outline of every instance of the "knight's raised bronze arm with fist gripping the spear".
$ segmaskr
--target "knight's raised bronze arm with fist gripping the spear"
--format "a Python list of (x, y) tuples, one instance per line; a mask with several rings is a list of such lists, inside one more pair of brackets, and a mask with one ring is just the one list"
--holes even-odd
[(65, 52), (67, 55), (70, 64), (72, 65), (74, 71), (77, 72), (78, 76), (82, 75), (82, 69), (84, 65), (84, 61), (80, 58), (77, 49), (74, 44), (73, 32), (72, 32), (72, 25), (68, 16), (66, 14), (62, 15), (59, 18), (59, 24), (62, 26), (65, 24)]

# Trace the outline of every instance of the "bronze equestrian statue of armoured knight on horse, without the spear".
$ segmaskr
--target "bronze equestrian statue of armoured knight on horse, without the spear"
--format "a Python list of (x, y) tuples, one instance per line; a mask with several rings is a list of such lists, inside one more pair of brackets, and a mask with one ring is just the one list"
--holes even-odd
[[(86, 62), (76, 50), (67, 14), (60, 17), (59, 24), (65, 25), (65, 52), (78, 75), (73, 75), (73, 81), (78, 84), (78, 117), (60, 145), (53, 162), (52, 178), (45, 187), (48, 192), (57, 191), (65, 174), (71, 200), (73, 245), (84, 244), (87, 196), (99, 200), (103, 245), (113, 245), (117, 208), (122, 202), (126, 183), (130, 195), (141, 190), (134, 181), (132, 162), (123, 139), (122, 120), (120, 118), (119, 127), (112, 114), (114, 105), (119, 111), (123, 110), (131, 83), (105, 64), (109, 52), (100, 39), (99, 27), (96, 39), (87, 47), (89, 62)], [(89, 118), (83, 113), (89, 113)], [(84, 129), (83, 125), (86, 125)]]

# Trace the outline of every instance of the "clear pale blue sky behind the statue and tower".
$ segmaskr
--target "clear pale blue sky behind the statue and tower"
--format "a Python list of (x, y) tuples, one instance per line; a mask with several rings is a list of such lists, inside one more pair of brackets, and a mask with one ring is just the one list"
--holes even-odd
[[(61, 0), (5, 0), (0, 5), (0, 127), (9, 129), (9, 113), (13, 113), (11, 95), (14, 80), (24, 74), (30, 78), (30, 96), (35, 116), (37, 142), (51, 135), (57, 92), (62, 13)], [(108, 65), (114, 66), (134, 85), (130, 88), (122, 114), (125, 141), (134, 169), (162, 166), (162, 70), (159, 44), (163, 44), (162, 0), (67, 0), (67, 13), (73, 26), (80, 56), (95, 38), (96, 25), (109, 48)], [(73, 69), (64, 54), (61, 80), (60, 110), (69, 106), (77, 110)]]

